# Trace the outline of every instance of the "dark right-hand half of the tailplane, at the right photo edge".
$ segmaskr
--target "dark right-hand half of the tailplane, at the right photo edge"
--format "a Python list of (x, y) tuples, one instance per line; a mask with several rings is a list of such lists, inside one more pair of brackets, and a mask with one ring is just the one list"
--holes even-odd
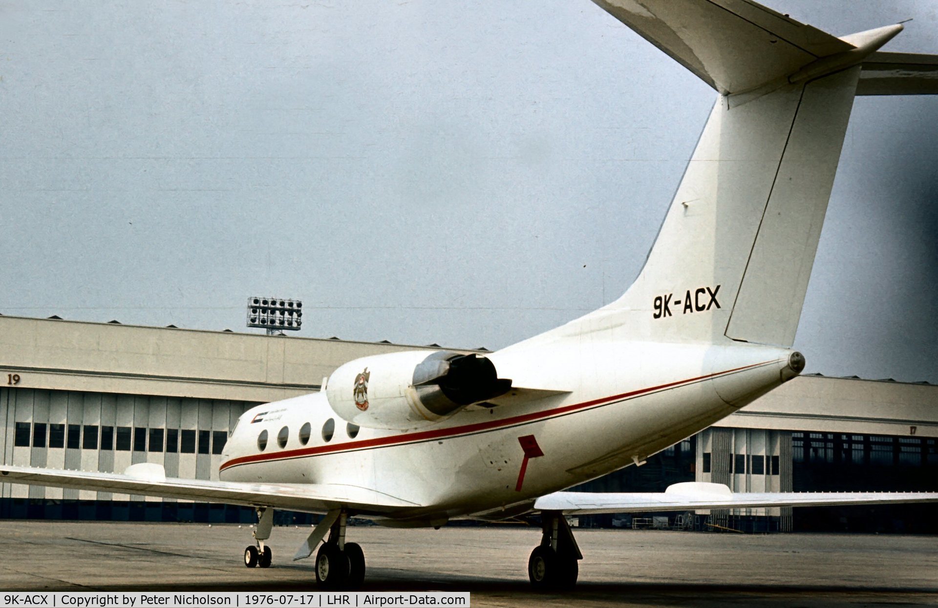
[(856, 95), (938, 95), (938, 55), (874, 52), (863, 62)]

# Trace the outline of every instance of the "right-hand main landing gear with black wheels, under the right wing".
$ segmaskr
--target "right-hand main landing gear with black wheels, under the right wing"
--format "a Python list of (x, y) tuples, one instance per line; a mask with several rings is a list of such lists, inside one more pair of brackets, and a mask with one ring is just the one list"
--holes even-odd
[(580, 547), (573, 538), (562, 512), (545, 511), (540, 515), (540, 544), (528, 558), (528, 578), (538, 591), (572, 589), (580, 573)]

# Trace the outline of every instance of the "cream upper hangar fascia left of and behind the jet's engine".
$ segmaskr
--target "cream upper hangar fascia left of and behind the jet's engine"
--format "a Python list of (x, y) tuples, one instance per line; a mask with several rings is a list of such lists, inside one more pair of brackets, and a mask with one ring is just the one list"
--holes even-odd
[(67, 391), (275, 401), (318, 391), (357, 357), (415, 348), (436, 349), (0, 316), (0, 369)]

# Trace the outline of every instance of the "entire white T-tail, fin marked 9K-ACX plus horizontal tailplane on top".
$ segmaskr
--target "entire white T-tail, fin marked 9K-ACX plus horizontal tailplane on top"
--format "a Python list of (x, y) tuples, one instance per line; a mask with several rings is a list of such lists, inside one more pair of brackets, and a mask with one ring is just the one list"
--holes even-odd
[(933, 92), (938, 64), (877, 52), (900, 24), (839, 38), (750, 0), (594, 2), (720, 96), (634, 284), (554, 332), (790, 347), (858, 82)]

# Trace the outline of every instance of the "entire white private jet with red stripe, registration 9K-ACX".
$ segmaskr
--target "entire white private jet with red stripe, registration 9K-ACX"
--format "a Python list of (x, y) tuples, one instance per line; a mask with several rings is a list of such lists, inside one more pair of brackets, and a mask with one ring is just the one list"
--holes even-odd
[[(572, 586), (565, 514), (938, 500), (917, 494), (660, 494), (563, 489), (706, 428), (797, 376), (791, 347), (856, 95), (938, 93), (938, 56), (882, 52), (902, 25), (834, 37), (749, 0), (595, 0), (718, 96), (643, 270), (625, 294), (486, 356), (417, 350), (341, 365), (320, 393), (251, 408), (219, 482), (0, 467), (4, 482), (250, 505), (245, 564), (267, 567), (273, 512), (325, 517), (296, 551), (356, 586), (351, 515), (384, 526), (539, 514), (537, 587)], [(317, 550), (318, 547), (318, 550)]]

